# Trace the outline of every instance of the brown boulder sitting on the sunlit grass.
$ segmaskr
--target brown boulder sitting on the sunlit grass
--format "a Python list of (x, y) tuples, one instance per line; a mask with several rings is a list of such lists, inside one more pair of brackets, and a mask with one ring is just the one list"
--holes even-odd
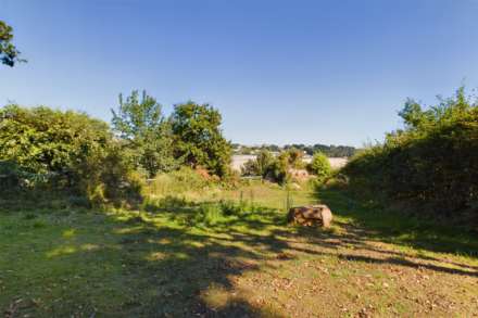
[(325, 204), (298, 206), (289, 211), (288, 221), (307, 227), (329, 228), (332, 221), (332, 213)]

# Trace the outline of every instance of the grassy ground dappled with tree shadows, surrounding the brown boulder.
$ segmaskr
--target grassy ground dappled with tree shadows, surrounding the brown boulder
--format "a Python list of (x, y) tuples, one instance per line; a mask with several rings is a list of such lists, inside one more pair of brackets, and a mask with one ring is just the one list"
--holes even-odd
[[(317, 201), (335, 213), (330, 230), (285, 222), (288, 204)], [(139, 211), (4, 211), (0, 309), (5, 317), (471, 317), (477, 251), (476, 237), (337, 190), (288, 199), (277, 186), (253, 185), (153, 198)]]

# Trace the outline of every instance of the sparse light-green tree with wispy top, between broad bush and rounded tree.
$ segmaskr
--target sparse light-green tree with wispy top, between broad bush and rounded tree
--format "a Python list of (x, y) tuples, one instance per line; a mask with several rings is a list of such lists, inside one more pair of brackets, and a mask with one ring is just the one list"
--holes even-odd
[(133, 91), (126, 100), (120, 94), (120, 107), (113, 113), (113, 127), (125, 141), (129, 157), (144, 168), (150, 177), (176, 166), (173, 156), (173, 136), (169, 123), (156, 100)]

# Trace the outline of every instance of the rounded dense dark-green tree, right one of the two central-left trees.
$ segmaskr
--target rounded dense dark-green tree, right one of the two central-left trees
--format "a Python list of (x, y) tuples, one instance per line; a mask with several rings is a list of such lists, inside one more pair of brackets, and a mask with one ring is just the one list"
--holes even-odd
[(229, 171), (231, 145), (221, 130), (222, 116), (209, 104), (189, 101), (175, 105), (171, 116), (176, 155), (191, 166), (202, 166), (223, 177)]

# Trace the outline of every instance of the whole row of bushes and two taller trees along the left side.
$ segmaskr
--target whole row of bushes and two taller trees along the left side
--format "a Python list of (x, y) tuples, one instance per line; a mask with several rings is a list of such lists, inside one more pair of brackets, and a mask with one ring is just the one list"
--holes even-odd
[(0, 109), (2, 196), (39, 190), (101, 203), (138, 199), (147, 178), (184, 166), (229, 176), (231, 147), (211, 105), (177, 104), (166, 117), (154, 98), (134, 91), (112, 113), (110, 126), (46, 106)]

